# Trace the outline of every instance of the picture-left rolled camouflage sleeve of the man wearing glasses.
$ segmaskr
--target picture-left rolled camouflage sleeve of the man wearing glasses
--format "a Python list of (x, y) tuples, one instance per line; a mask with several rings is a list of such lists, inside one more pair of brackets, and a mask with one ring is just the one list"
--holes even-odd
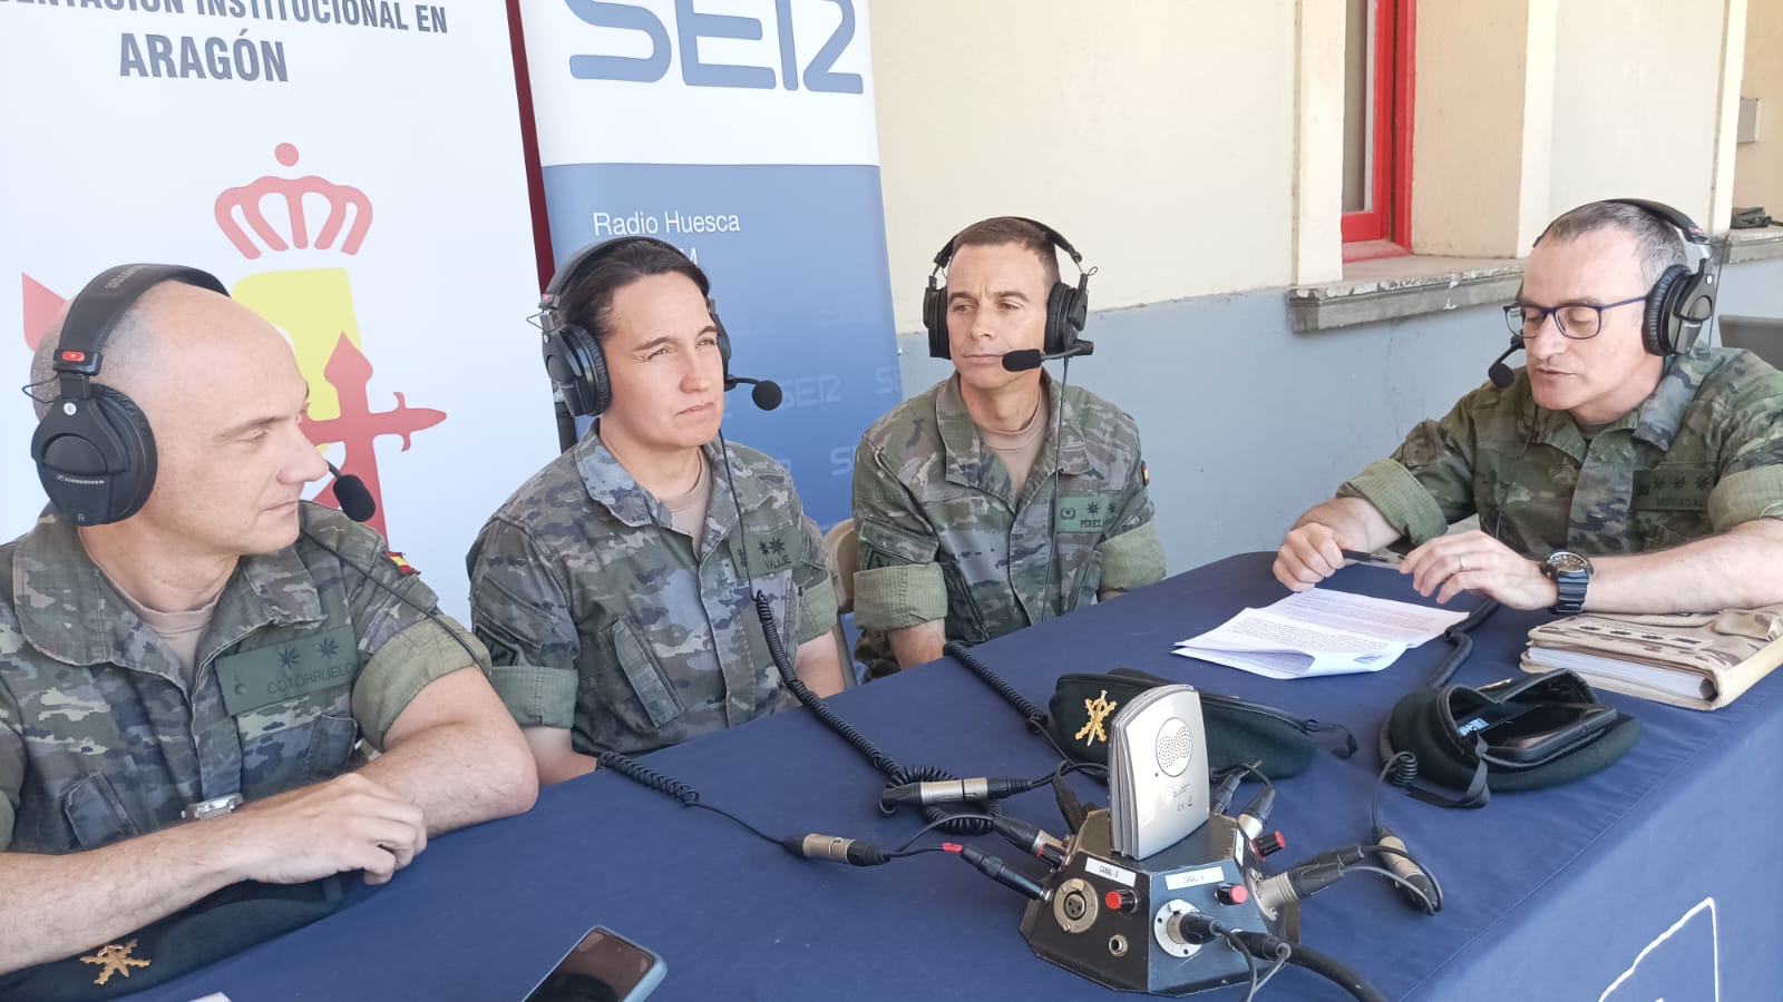
[(1473, 394), (1462, 398), (1442, 421), (1419, 421), (1391, 458), (1344, 481), (1337, 496), (1368, 501), (1412, 546), (1475, 513), (1471, 399)]

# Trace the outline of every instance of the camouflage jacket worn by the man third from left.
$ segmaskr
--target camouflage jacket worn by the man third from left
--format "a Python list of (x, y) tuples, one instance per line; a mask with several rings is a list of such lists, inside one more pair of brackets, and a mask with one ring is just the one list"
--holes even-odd
[[(1041, 385), (1059, 415), (1059, 383)], [(1164, 576), (1139, 426), (1080, 387), (1063, 408), (1057, 505), (1054, 428), (1016, 492), (957, 374), (867, 430), (854, 453), (854, 620), (874, 674), (895, 670), (881, 631), (945, 620), (949, 640), (977, 644)]]

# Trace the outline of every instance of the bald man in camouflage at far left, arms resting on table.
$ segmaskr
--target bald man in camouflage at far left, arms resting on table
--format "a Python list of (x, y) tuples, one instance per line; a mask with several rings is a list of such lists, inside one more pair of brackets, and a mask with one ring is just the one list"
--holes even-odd
[[(37, 349), (39, 417), (59, 342)], [(162, 282), (102, 357), (153, 433), (153, 487), (121, 521), (50, 510), (0, 547), (0, 972), (237, 881), (383, 883), (537, 793), (451, 620), (423, 615), (433, 594), (298, 501), (325, 465), (283, 337)], [(383, 754), (353, 768), (360, 738)]]

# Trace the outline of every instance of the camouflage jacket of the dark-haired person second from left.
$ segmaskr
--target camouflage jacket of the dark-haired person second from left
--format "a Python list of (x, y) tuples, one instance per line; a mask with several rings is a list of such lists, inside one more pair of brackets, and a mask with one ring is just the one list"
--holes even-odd
[(792, 656), (834, 628), (836, 594), (792, 476), (754, 449), (729, 453), (727, 478), (724, 449), (704, 448), (699, 553), (597, 431), (490, 515), (465, 558), (471, 622), (522, 727), (567, 727), (583, 754), (629, 754), (793, 704), (751, 595), (768, 597)]

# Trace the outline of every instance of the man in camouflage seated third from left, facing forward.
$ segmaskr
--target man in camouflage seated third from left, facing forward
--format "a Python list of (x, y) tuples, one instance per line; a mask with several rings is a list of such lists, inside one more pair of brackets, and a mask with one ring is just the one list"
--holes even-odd
[(1004, 353), (1045, 342), (1052, 239), (995, 218), (952, 248), (956, 373), (881, 417), (854, 453), (856, 658), (874, 676), (1164, 576), (1132, 417), (1039, 369), (1002, 367)]

